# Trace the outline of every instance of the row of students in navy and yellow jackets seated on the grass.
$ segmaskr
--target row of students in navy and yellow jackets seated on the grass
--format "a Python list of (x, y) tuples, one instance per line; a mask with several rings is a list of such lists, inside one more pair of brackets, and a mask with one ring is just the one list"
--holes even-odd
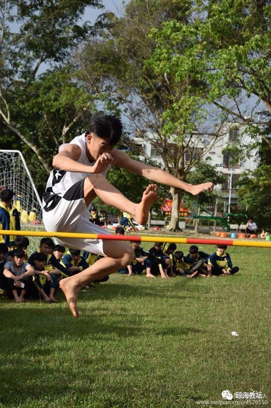
[[(123, 227), (117, 227), (116, 235), (124, 235)], [(140, 246), (140, 240), (131, 241), (134, 259), (126, 268), (118, 271), (127, 276), (145, 273), (146, 277), (175, 276), (186, 278), (229, 276), (238, 272), (232, 265), (226, 245), (217, 245), (208, 254), (191, 245), (184, 256), (175, 243), (155, 242), (149, 249)], [(55, 294), (59, 281), (82, 272), (101, 256), (73, 248), (55, 245), (51, 238), (42, 238), (39, 248), (28, 256), (29, 239), (16, 237), (13, 247), (0, 243), (0, 289), (7, 297), (21, 303), (25, 299), (42, 299), (45, 303), (57, 303)], [(90, 282), (83, 290), (108, 281), (109, 276)]]

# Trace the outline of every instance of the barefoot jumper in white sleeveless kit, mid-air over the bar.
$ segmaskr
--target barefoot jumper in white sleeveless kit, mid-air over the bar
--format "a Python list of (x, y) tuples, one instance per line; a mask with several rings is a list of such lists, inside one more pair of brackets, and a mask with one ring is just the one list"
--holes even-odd
[[(106, 180), (106, 173), (112, 166), (122, 167), (156, 183), (181, 188), (193, 195), (213, 190), (213, 183), (193, 186), (160, 168), (132, 160), (123, 151), (114, 148), (121, 134), (120, 119), (100, 113), (92, 116), (89, 133), (60, 146), (52, 162), (55, 169), (50, 173), (43, 195), (43, 222), (47, 231), (110, 234), (89, 221), (88, 208), (96, 196), (107, 205), (131, 214), (139, 224), (145, 224), (157, 197), (157, 186), (149, 184), (141, 202), (134, 203)], [(74, 317), (79, 316), (76, 305), (79, 289), (87, 282), (125, 268), (134, 257), (132, 248), (124, 241), (58, 238), (56, 242), (104, 256), (84, 271), (60, 282)]]

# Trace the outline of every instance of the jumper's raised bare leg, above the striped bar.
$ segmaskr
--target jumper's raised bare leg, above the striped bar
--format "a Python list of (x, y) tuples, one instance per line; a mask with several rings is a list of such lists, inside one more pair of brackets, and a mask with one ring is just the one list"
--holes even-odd
[(97, 195), (106, 204), (131, 214), (140, 224), (146, 224), (148, 221), (150, 208), (157, 198), (157, 191), (158, 188), (155, 184), (149, 184), (143, 192), (141, 202), (136, 204), (128, 200), (102, 174), (92, 174), (84, 182), (84, 196), (87, 206)]

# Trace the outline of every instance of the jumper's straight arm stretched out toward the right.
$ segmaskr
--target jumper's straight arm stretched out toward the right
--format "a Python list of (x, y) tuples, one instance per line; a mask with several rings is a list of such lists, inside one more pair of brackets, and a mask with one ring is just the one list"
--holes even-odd
[(181, 188), (182, 190), (193, 195), (197, 195), (207, 189), (210, 191), (213, 190), (213, 183), (203, 183), (193, 186), (192, 184), (188, 184), (177, 179), (177, 177), (167, 173), (164, 170), (157, 167), (148, 166), (147, 164), (138, 162), (137, 160), (133, 160), (120, 150), (114, 149), (112, 150), (111, 154), (113, 156), (113, 166), (123, 167), (132, 173), (142, 175), (146, 177), (146, 179), (152, 180), (156, 183)]

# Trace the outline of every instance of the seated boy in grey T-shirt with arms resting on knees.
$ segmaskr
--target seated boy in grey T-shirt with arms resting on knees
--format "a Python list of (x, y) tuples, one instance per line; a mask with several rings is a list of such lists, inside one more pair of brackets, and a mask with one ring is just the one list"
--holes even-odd
[(8, 278), (7, 293), (10, 298), (14, 297), (17, 303), (24, 301), (24, 296), (31, 283), (29, 276), (33, 276), (34, 273), (49, 276), (46, 271), (34, 271), (28, 262), (24, 262), (24, 256), (22, 249), (14, 249), (11, 253), (12, 261), (7, 262), (4, 266), (4, 275)]

